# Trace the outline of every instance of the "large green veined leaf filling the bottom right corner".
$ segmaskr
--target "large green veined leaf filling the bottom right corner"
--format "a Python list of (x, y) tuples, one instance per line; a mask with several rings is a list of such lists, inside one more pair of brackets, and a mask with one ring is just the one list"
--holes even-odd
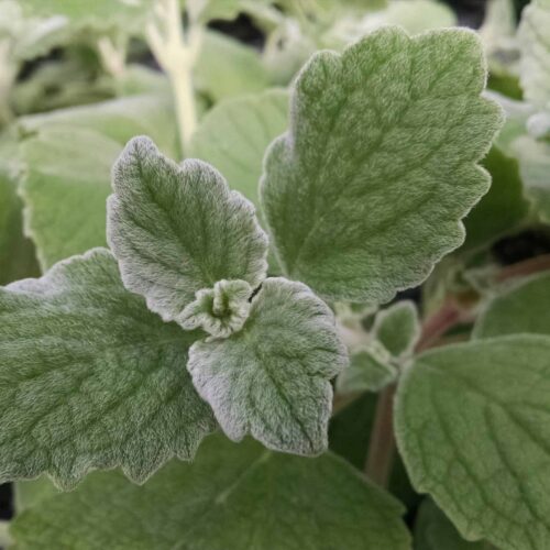
[(396, 433), (415, 488), (468, 540), (550, 548), (550, 338), (508, 336), (420, 355)]

